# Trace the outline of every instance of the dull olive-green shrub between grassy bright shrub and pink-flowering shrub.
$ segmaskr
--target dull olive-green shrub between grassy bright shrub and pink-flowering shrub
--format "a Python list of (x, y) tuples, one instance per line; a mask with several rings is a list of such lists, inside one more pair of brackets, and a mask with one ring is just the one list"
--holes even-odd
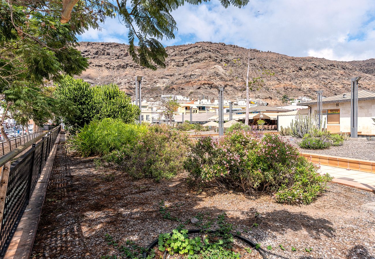
[(137, 179), (171, 179), (183, 172), (188, 143), (186, 134), (153, 126), (134, 145), (124, 145), (103, 160)]

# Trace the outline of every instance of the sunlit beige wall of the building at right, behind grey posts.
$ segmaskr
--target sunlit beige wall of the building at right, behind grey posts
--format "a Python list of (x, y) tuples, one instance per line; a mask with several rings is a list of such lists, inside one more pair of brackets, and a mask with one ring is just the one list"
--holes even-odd
[[(317, 105), (311, 105), (311, 108), (311, 114), (314, 115)], [(339, 103), (339, 106), (336, 106), (336, 103), (323, 104), (323, 110), (328, 109), (340, 109), (340, 124), (327, 124), (327, 129), (332, 132), (350, 132), (350, 102)], [(358, 132), (361, 132), (360, 134), (375, 135), (375, 125), (371, 118), (375, 118), (375, 100), (358, 101)]]

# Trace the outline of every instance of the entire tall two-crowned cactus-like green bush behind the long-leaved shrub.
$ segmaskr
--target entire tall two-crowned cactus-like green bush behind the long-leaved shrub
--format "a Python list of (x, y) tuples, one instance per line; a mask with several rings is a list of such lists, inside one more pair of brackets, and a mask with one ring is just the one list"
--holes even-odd
[(83, 127), (93, 119), (104, 118), (132, 123), (139, 116), (139, 108), (115, 84), (90, 87), (82, 79), (65, 76), (58, 82), (54, 95), (61, 102), (69, 101), (77, 107), (76, 114), (62, 108), (63, 122), (69, 126)]

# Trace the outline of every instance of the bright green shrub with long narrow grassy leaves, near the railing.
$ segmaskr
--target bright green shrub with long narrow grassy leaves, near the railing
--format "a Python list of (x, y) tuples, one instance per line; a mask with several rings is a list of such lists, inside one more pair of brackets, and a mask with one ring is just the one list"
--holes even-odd
[(126, 124), (121, 119), (92, 121), (68, 139), (69, 150), (82, 157), (105, 155), (135, 143), (147, 131), (145, 125)]

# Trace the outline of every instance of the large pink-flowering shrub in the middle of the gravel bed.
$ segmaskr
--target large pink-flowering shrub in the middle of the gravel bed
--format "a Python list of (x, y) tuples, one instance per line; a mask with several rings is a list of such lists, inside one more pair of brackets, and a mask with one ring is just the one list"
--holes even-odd
[(309, 204), (331, 179), (277, 135), (233, 131), (201, 138), (190, 151), (184, 167), (195, 179), (246, 194), (267, 192), (278, 202)]

